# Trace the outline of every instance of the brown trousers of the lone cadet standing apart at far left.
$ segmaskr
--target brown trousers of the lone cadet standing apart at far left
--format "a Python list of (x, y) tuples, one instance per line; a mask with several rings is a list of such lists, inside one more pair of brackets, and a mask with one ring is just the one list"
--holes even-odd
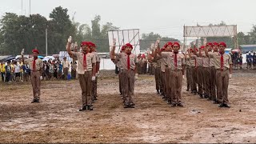
[(31, 71), (30, 72), (30, 78), (31, 78), (31, 84), (32, 84), (32, 88), (33, 88), (33, 96), (34, 96), (34, 100), (40, 100), (40, 95), (41, 95), (41, 90), (40, 90), (40, 85), (41, 85), (41, 81), (40, 81), (40, 71), (36, 70), (36, 71)]

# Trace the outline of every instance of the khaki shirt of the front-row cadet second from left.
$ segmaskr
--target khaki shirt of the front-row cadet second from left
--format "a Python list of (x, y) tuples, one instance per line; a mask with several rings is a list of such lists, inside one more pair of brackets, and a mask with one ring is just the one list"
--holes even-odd
[(86, 68), (83, 66), (83, 53), (71, 51), (71, 54), (78, 58), (78, 74), (85, 74), (85, 71), (93, 70), (93, 63), (96, 63), (96, 57), (94, 54), (86, 54)]

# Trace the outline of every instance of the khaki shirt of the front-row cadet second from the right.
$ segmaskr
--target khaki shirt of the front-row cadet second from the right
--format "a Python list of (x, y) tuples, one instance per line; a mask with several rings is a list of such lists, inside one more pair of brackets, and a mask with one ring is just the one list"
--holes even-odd
[(185, 56), (177, 54), (177, 67), (175, 66), (175, 54), (173, 52), (162, 52), (162, 57), (170, 59), (170, 70), (182, 70), (182, 65), (185, 65)]

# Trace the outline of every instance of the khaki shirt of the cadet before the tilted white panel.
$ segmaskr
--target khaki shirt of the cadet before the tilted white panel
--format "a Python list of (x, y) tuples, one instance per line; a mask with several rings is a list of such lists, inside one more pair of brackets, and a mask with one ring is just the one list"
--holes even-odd
[[(126, 53), (119, 53), (116, 54), (116, 58), (118, 61), (120, 61), (120, 65), (122, 66), (122, 70), (128, 70), (127, 69), (127, 58), (128, 55)], [(138, 58), (136, 57), (135, 54), (130, 54), (130, 69), (135, 70), (136, 63), (138, 63)]]

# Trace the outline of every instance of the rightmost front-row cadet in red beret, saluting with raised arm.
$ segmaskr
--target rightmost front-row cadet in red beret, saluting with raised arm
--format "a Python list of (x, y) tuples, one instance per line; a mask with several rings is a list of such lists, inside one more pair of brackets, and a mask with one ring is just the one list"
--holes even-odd
[(229, 54), (225, 54), (226, 43), (219, 42), (219, 53), (208, 53), (206, 48), (206, 55), (209, 55), (210, 58), (214, 58), (214, 67), (216, 71), (216, 82), (217, 93), (218, 93), (218, 102), (220, 102), (219, 107), (230, 107), (228, 100), (228, 86), (229, 78), (232, 76), (232, 58)]

